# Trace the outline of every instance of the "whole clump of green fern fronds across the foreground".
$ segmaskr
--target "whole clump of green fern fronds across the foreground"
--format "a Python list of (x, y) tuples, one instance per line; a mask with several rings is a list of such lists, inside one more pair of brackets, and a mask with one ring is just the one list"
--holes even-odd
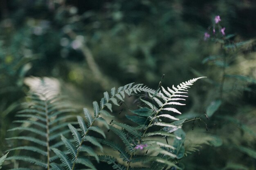
[[(185, 154), (184, 135), (180, 136), (178, 132), (181, 132), (180, 129), (186, 119), (180, 120), (175, 117), (175, 114), (181, 114), (175, 106), (184, 105), (180, 102), (187, 97), (184, 94), (187, 93), (189, 86), (200, 78), (202, 77), (183, 82), (176, 87), (167, 87), (167, 90), (161, 86), (155, 91), (143, 84), (133, 83), (117, 89), (112, 88), (110, 93), (103, 93), (99, 103), (96, 101), (92, 103), (92, 113), (88, 108), (84, 108), (83, 117), (67, 114), (72, 109), (61, 104), (58, 97), (47, 98), (44, 97), (44, 93), (39, 95), (32, 93), (29, 95), (33, 103), (29, 105), (31, 107), (18, 113), (18, 116), (28, 119), (16, 121), (29, 126), (12, 128), (9, 131), (26, 131), (33, 135), (9, 139), (28, 140), (36, 143), (37, 146), (18, 146), (9, 151), (33, 151), (45, 159), (25, 156), (13, 156), (8, 159), (31, 162), (47, 170), (96, 170), (93, 160), (111, 164), (112, 168), (117, 170), (178, 168), (177, 159)], [(144, 95), (145, 93), (147, 95)], [(137, 126), (117, 120), (109, 122), (109, 119), (115, 118), (112, 115), (114, 105), (120, 106), (120, 101), (124, 102), (126, 95), (139, 96), (144, 104), (141, 105), (144, 107), (131, 110), (133, 115), (126, 115), (128, 119), (138, 124)], [(66, 121), (74, 116), (77, 122)], [(106, 131), (98, 126), (98, 123), (110, 130), (120, 142), (117, 144), (110, 141)], [(72, 135), (73, 139), (70, 139), (67, 133)], [(174, 139), (173, 145), (168, 143), (169, 137)], [(160, 140), (163, 138), (166, 142)], [(102, 155), (106, 146), (119, 152), (119, 155)], [(134, 163), (140, 163), (141, 167), (133, 167)]]

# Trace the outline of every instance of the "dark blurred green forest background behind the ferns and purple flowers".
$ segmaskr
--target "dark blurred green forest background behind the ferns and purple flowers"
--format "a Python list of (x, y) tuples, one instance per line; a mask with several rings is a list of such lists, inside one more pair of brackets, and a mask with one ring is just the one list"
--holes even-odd
[[(0, 11), (0, 155), (31, 76), (58, 82), (80, 113), (113, 86), (155, 89), (163, 74), (164, 86), (207, 76), (182, 117), (221, 100), (207, 133), (222, 142), (182, 159), (185, 169), (256, 170), (254, 0), (1, 0)], [(204, 40), (216, 15), (228, 41)], [(206, 132), (204, 124), (184, 130), (191, 143)]]

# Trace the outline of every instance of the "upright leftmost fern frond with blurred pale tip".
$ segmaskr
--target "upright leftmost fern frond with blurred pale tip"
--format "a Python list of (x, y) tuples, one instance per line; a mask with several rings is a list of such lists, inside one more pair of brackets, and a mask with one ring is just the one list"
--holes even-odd
[[(31, 155), (36, 156), (29, 157), (21, 154), (8, 157), (7, 160), (14, 159), (29, 162), (49, 170), (52, 158), (55, 156), (54, 152), (52, 152), (52, 146), (56, 147), (56, 144), (61, 139), (61, 134), (65, 135), (69, 132), (66, 126), (74, 123), (68, 121), (68, 119), (74, 117), (70, 115), (70, 112), (74, 111), (74, 109), (61, 102), (57, 96), (50, 95), (51, 90), (45, 85), (43, 79), (41, 79), (40, 86), (42, 91), (29, 93), (27, 95), (28, 102), (22, 104), (27, 108), (17, 113), (18, 117), (27, 119), (14, 121), (19, 123), (20, 126), (8, 130), (18, 133), (18, 136), (7, 138), (7, 140), (29, 141), (29, 143), (26, 142), (26, 146), (14, 147), (8, 151), (20, 150), (22, 151), (21, 153), (24, 152), (26, 155), (31, 153)], [(19, 143), (22, 144), (22, 142)], [(67, 146), (68, 143), (64, 144)], [(29, 168), (29, 163), (22, 162), (20, 163), (21, 166), (25, 165), (27, 166), (25, 168)]]

